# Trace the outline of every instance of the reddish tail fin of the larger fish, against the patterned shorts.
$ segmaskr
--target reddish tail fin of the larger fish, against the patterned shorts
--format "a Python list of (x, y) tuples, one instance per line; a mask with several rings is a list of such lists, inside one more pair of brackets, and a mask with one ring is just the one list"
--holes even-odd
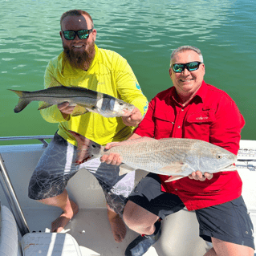
[(91, 145), (92, 141), (77, 132), (72, 132), (72, 131), (69, 131), (69, 132), (71, 133), (72, 136), (75, 137), (75, 140), (77, 141), (77, 154), (76, 154), (75, 163), (77, 165), (80, 165), (83, 162), (86, 162), (87, 160), (90, 159), (90, 156), (87, 150)]

